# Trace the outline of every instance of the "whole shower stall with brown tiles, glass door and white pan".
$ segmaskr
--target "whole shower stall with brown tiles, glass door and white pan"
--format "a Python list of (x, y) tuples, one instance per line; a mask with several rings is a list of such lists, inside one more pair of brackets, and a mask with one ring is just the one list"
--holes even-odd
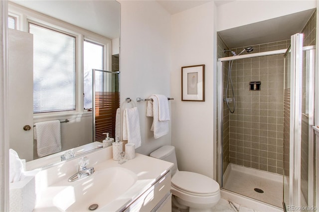
[(311, 209), (315, 46), (298, 33), (253, 48), (218, 58), (217, 180), (273, 207)]

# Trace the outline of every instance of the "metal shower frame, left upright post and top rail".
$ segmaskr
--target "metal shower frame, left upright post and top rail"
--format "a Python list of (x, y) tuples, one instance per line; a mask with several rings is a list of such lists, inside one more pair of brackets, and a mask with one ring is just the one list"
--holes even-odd
[(262, 57), (262, 56), (269, 56), (269, 55), (277, 55), (277, 54), (285, 54), (287, 49), (275, 50), (275, 51), (267, 51), (267, 52), (259, 52), (259, 53), (252, 53), (252, 54), (244, 54), (239, 56), (232, 56), (232, 57), (222, 57), (217, 59), (217, 103), (218, 103), (218, 123), (217, 123), (217, 175), (216, 180), (221, 185), (221, 189), (223, 186), (223, 145), (222, 145), (222, 138), (223, 138), (223, 62), (231, 61), (231, 60), (239, 60), (245, 58), (253, 58), (253, 57)]

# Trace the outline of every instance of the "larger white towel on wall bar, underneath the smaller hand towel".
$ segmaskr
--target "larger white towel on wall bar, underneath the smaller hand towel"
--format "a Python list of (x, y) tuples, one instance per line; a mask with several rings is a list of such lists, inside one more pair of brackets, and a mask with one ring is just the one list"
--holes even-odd
[[(165, 97), (166, 98), (166, 97)], [(153, 103), (151, 101), (148, 102), (148, 106), (147, 106), (147, 116), (151, 116), (150, 114), (152, 114), (151, 110), (151, 106), (153, 106), (153, 124), (151, 127), (151, 131), (154, 131), (154, 138), (159, 138), (163, 135), (166, 135), (168, 133), (168, 120), (169, 120), (169, 111), (166, 112), (168, 113), (168, 120), (159, 120), (159, 99), (157, 98), (157, 96), (153, 95), (150, 97), (150, 99), (153, 99)], [(166, 98), (166, 101), (167, 98)], [(165, 116), (165, 115), (163, 115)], [(167, 116), (166, 116), (167, 118)], [(166, 119), (164, 118), (164, 119)]]

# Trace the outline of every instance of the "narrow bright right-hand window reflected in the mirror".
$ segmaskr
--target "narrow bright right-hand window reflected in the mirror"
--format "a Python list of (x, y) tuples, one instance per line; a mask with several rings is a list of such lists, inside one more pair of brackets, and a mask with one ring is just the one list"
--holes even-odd
[[(92, 69), (103, 70), (104, 46), (84, 40), (84, 108), (92, 108)], [(102, 74), (96, 75), (96, 87), (103, 85)], [(97, 85), (98, 84), (98, 85)]]

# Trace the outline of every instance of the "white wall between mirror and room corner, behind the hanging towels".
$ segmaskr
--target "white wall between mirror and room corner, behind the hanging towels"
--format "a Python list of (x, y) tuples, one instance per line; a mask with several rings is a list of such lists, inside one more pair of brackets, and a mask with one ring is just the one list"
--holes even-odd
[[(152, 94), (170, 96), (171, 15), (156, 1), (120, 0), (121, 3), (121, 103)], [(154, 139), (153, 118), (146, 117), (146, 102), (137, 103), (142, 146), (137, 152), (150, 154), (171, 144), (171, 133)], [(171, 105), (175, 101), (170, 102)], [(170, 126), (169, 126), (170, 127)]]

